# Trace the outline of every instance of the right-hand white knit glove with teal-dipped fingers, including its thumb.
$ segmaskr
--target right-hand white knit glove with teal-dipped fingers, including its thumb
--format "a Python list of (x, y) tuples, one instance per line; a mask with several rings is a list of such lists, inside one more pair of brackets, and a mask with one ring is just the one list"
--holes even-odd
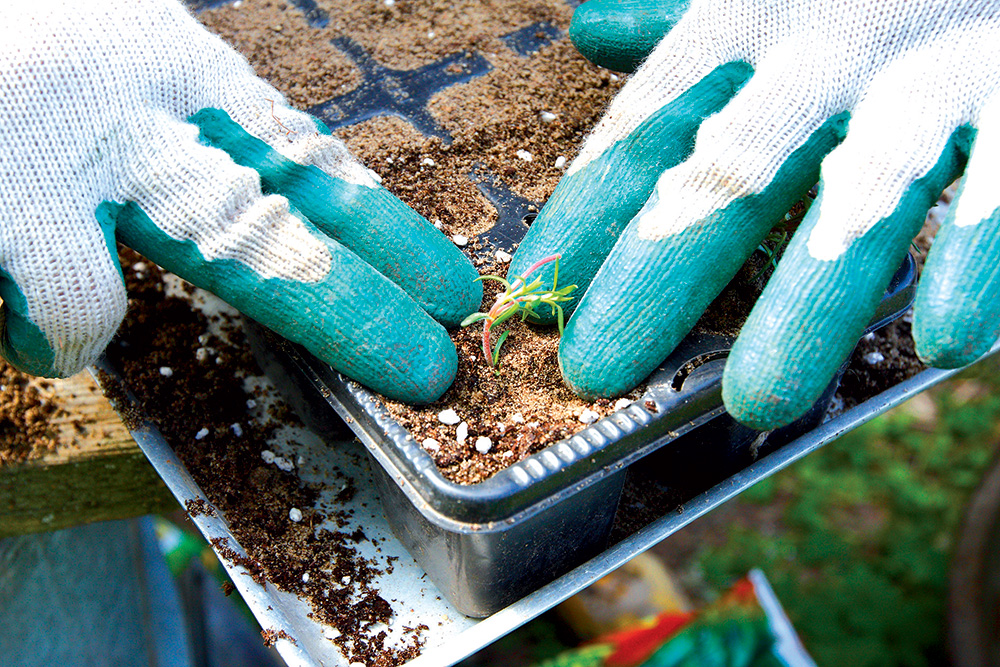
[[(608, 7), (617, 14), (595, 18)], [(653, 9), (660, 18), (648, 18)], [(571, 34), (619, 62), (623, 49), (605, 48), (612, 27), (628, 36), (683, 16), (613, 101), (511, 265), (517, 275), (562, 253), (560, 280), (589, 286), (559, 350), (578, 393), (641, 382), (817, 179), (819, 198), (729, 356), (734, 417), (770, 429), (820, 396), (963, 170), (918, 294), (918, 352), (955, 366), (996, 340), (995, 1), (693, 0), (682, 11), (593, 0), (579, 11)]]

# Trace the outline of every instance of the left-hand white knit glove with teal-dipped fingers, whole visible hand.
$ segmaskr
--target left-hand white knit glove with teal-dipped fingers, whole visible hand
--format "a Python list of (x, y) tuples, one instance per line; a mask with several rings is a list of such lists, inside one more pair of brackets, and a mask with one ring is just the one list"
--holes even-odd
[(183, 7), (35, 0), (0, 22), (14, 365), (69, 375), (100, 354), (126, 308), (117, 237), (387, 396), (447, 388), (438, 322), (478, 308), (472, 264)]

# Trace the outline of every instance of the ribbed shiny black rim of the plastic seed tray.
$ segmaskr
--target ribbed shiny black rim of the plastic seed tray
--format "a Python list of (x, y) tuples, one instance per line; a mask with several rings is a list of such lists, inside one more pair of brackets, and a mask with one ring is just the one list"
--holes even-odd
[[(902, 315), (915, 291), (916, 263), (907, 254), (866, 333)], [(482, 482), (462, 485), (441, 474), (377, 394), (303, 348), (268, 336), (272, 349), (277, 347), (274, 351), (302, 372), (421, 514), (460, 533), (516, 524), (724, 414), (721, 371), (733, 340), (718, 334), (689, 335), (649, 377), (638, 401)]]

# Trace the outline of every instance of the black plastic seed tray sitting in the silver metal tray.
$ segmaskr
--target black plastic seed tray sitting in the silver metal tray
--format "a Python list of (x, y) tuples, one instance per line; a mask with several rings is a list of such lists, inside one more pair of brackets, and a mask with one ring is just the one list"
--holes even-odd
[[(488, 175), (473, 180), (501, 212), (481, 240), (509, 249), (526, 231), (522, 217), (534, 206)], [(909, 308), (915, 281), (908, 256), (869, 331)], [(462, 486), (440, 474), (377, 395), (259, 327), (250, 334), (268, 374), (284, 377), (279, 386), (310, 421), (335, 428), (332, 408), (365, 444), (393, 532), (449, 601), (474, 617), (502, 609), (602, 551), (629, 466), (658, 452), (661, 486), (676, 482), (688, 495), (707, 489), (819, 424), (837, 386), (834, 381), (794, 424), (753, 431), (722, 404), (722, 369), (733, 341), (691, 335), (649, 377), (640, 400), (488, 480)]]

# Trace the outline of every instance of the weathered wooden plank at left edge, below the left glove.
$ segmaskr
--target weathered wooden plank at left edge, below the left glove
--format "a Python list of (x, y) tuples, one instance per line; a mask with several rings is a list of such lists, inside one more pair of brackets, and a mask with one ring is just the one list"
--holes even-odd
[(89, 374), (36, 386), (65, 411), (59, 445), (0, 466), (0, 538), (177, 509)]

